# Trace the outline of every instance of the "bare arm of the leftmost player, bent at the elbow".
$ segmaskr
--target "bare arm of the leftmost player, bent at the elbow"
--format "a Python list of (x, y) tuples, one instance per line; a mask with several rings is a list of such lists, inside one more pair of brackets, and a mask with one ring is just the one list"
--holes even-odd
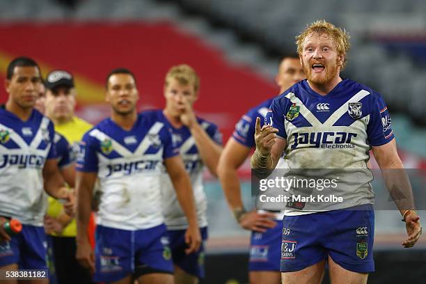
[(47, 159), (43, 167), (44, 187), (47, 194), (56, 199), (67, 200), (63, 205), (67, 214), (74, 210), (74, 192), (65, 187), (65, 180), (58, 168), (56, 159)]

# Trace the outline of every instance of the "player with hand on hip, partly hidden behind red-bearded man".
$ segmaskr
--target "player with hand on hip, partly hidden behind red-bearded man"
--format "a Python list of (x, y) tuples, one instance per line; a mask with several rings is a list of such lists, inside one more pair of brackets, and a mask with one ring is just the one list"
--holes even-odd
[[(280, 93), (305, 78), (299, 57), (284, 56), (278, 67), (275, 82)], [(280, 248), (283, 226), (281, 210), (252, 210), (246, 212), (241, 198), (237, 170), (250, 155), (255, 146), (255, 121), (258, 116), (265, 117), (272, 98), (250, 109), (242, 116), (235, 131), (226, 143), (219, 159), (218, 175), (223, 193), (228, 204), (242, 228), (251, 230), (250, 258), (248, 271), (250, 283), (281, 283)], [(263, 121), (263, 120), (262, 120)], [(282, 160), (283, 161), (283, 160)], [(284, 162), (285, 163), (285, 162)], [(285, 166), (285, 165), (283, 165)], [(271, 208), (269, 208), (271, 209)]]

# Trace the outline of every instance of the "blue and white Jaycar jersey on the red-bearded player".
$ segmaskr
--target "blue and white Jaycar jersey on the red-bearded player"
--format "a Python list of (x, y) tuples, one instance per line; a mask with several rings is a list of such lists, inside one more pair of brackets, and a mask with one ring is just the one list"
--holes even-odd
[[(394, 137), (388, 109), (379, 93), (344, 79), (329, 94), (319, 95), (303, 80), (274, 99), (266, 119), (278, 129), (278, 138), (287, 140), (285, 159), (290, 169), (315, 168), (317, 173), (319, 169), (333, 169), (322, 178), (338, 177), (333, 193), (344, 200), (329, 205), (306, 203), (303, 210), (293, 207), (286, 214), (373, 203), (373, 177), (367, 169), (369, 150)], [(297, 190), (292, 188), (290, 193), (297, 194)]]

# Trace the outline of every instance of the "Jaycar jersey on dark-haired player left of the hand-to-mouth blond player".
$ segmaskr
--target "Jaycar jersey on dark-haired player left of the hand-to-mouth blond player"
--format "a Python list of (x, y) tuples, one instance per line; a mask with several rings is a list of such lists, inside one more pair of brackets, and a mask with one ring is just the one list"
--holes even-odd
[(160, 113), (140, 113), (131, 130), (107, 118), (83, 137), (77, 171), (97, 173), (100, 205), (97, 224), (141, 230), (164, 222), (160, 178), (164, 159), (179, 154)]

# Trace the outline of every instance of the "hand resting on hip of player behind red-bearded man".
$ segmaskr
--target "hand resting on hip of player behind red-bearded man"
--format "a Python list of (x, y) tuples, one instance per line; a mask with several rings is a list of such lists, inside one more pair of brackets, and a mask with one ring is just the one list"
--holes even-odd
[(274, 213), (264, 212), (259, 213), (255, 210), (242, 214), (239, 218), (239, 226), (246, 230), (253, 230), (255, 232), (266, 232), (269, 228), (276, 226), (276, 218)]

